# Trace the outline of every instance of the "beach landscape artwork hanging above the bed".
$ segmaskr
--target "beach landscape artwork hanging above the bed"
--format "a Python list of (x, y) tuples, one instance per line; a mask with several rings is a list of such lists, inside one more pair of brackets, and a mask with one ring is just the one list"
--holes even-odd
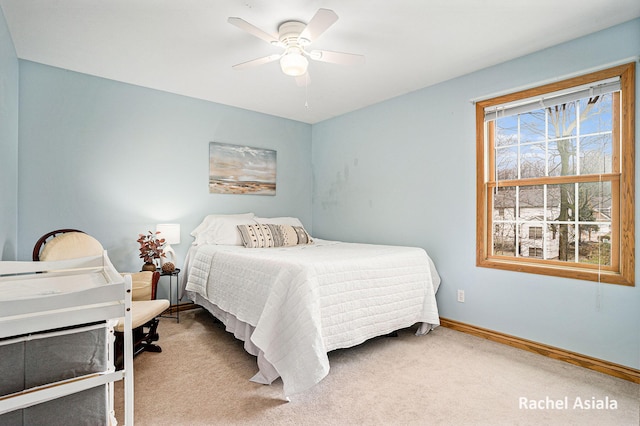
[(276, 151), (210, 142), (209, 192), (276, 195)]

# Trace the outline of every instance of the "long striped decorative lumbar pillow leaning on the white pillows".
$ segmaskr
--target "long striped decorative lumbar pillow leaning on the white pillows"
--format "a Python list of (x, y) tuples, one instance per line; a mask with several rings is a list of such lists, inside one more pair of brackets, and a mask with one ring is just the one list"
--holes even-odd
[(242, 244), (247, 248), (287, 247), (311, 244), (313, 239), (302, 226), (256, 224), (238, 225)]

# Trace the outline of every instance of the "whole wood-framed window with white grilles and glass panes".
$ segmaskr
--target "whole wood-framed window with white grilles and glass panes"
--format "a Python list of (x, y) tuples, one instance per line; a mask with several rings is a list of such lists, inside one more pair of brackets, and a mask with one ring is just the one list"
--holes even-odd
[(635, 64), (476, 103), (478, 266), (634, 285)]

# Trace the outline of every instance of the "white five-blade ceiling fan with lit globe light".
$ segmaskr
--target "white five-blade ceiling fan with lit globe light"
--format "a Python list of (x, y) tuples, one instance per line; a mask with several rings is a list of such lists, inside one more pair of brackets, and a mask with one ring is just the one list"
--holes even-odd
[(364, 62), (364, 56), (353, 53), (332, 52), (328, 50), (311, 50), (306, 48), (318, 39), (331, 25), (338, 20), (333, 10), (319, 9), (308, 24), (300, 21), (286, 21), (278, 27), (278, 36), (271, 35), (241, 18), (229, 18), (230, 24), (252, 34), (273, 46), (284, 49), (282, 53), (253, 59), (233, 66), (235, 70), (242, 70), (257, 65), (280, 60), (282, 72), (296, 77), (299, 84), (308, 84), (309, 61), (331, 62), (334, 64), (354, 65)]

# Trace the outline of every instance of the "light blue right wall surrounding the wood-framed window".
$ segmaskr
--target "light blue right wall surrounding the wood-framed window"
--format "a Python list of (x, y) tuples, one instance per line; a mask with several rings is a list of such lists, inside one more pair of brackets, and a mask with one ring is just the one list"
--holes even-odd
[(470, 102), (637, 55), (640, 20), (314, 125), (314, 234), (423, 247), (442, 275), (442, 317), (640, 368), (637, 279), (623, 287), (475, 266)]

